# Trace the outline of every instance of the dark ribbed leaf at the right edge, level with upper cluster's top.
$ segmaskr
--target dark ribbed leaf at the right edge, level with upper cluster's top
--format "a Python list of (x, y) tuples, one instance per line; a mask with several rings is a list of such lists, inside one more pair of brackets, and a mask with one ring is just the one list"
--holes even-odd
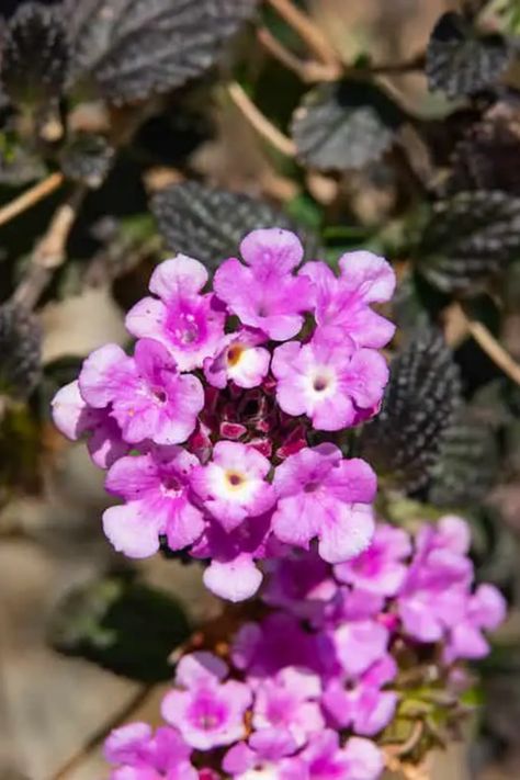
[(520, 257), (520, 197), (460, 192), (436, 204), (418, 248), (418, 270), (446, 293), (482, 292)]

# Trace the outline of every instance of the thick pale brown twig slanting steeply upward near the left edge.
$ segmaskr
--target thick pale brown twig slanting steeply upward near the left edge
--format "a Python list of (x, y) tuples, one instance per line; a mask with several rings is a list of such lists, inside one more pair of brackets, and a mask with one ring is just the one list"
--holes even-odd
[(14, 291), (13, 301), (18, 304), (33, 308), (54, 270), (64, 262), (66, 244), (84, 194), (84, 186), (78, 185), (56, 211), (47, 233), (34, 249), (26, 274)]

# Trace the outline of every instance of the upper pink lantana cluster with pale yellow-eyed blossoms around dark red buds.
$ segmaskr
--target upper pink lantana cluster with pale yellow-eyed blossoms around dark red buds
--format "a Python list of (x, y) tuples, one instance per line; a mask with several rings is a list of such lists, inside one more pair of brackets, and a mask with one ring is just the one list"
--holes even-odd
[(303, 263), (282, 229), (252, 231), (240, 255), (212, 284), (183, 255), (158, 265), (126, 317), (133, 354), (95, 350), (53, 403), (57, 427), (87, 436), (108, 470), (121, 501), (103, 516), (114, 547), (205, 558), (206, 586), (235, 601), (257, 591), (256, 562), (280, 544), (317, 540), (330, 564), (370, 544), (375, 475), (344, 459), (337, 437), (380, 407), (378, 350), (394, 326), (372, 304), (395, 285), (370, 252), (344, 255), (339, 275)]

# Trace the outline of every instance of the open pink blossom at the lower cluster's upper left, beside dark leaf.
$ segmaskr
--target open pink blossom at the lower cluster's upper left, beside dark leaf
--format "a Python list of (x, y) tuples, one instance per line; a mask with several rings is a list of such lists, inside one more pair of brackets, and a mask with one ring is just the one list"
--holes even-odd
[(251, 691), (244, 682), (224, 682), (227, 674), (227, 665), (211, 653), (192, 653), (177, 666), (178, 690), (162, 700), (162, 716), (191, 747), (210, 750), (246, 735)]

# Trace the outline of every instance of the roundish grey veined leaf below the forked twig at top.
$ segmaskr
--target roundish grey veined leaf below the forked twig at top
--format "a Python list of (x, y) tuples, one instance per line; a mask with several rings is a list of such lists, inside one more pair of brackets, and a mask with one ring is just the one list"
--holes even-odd
[(343, 171), (378, 159), (404, 118), (374, 84), (343, 80), (310, 90), (296, 109), (291, 129), (304, 162)]

